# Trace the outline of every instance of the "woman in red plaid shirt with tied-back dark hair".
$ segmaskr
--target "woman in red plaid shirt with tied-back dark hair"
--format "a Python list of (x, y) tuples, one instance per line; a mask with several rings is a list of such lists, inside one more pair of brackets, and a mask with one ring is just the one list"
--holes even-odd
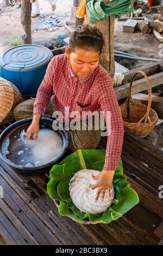
[[(53, 57), (48, 65), (37, 92), (33, 121), (27, 130), (28, 139), (32, 133), (35, 134), (34, 139), (37, 138), (39, 120), (45, 113), (53, 93), (55, 110), (63, 114), (65, 107), (70, 107), (70, 112), (80, 111), (81, 114), (83, 111), (93, 112), (100, 108), (104, 111), (106, 120), (106, 111), (111, 112), (111, 127), (106, 121), (110, 132), (106, 145), (105, 164), (98, 176), (92, 176), (97, 182), (91, 188), (98, 187), (95, 202), (100, 195), (103, 201), (106, 190), (110, 197), (112, 179), (120, 160), (123, 143), (123, 121), (114, 93), (113, 81), (108, 72), (98, 64), (103, 45), (103, 35), (96, 26), (78, 27), (72, 33), (66, 53)], [(70, 131), (70, 135), (73, 132), (77, 131)], [(72, 137), (70, 142), (71, 140)], [(87, 148), (90, 148), (90, 145)]]

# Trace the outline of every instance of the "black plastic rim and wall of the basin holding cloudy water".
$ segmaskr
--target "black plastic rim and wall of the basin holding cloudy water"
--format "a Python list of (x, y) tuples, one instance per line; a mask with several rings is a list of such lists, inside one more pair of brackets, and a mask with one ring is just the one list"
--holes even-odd
[[(58, 126), (60, 126), (60, 129), (57, 130), (57, 132), (62, 137), (62, 142), (63, 142), (62, 150), (61, 150), (61, 152), (59, 153), (59, 155), (57, 157), (55, 157), (50, 162), (48, 162), (48, 163), (46, 163), (42, 166), (37, 166), (37, 167), (23, 167), (23, 166), (21, 167), (21, 166), (18, 166), (15, 163), (8, 160), (7, 157), (5, 157), (5, 155), (2, 152), (2, 143), (4, 141), (4, 138), (7, 137), (9, 134), (11, 136), (12, 132), (14, 133), (14, 131), (17, 130), (17, 129), (27, 130), (27, 127), (32, 123), (32, 120), (33, 120), (32, 118), (27, 118), (27, 119), (22, 119), (20, 121), (17, 121), (14, 124), (11, 124), (10, 126), (8, 126), (1, 133), (1, 136), (0, 136), (0, 158), (2, 159), (3, 162), (7, 163), (8, 166), (12, 167), (12, 169), (14, 169), (16, 172), (18, 172), (20, 174), (40, 175), (40, 174), (43, 174), (45, 172), (49, 172), (49, 170), (52, 168), (53, 164), (57, 163), (61, 159), (61, 157), (65, 155), (66, 150), (68, 149), (68, 144), (69, 144), (68, 132), (65, 131), (64, 129), (62, 129), (60, 125), (58, 125)], [(53, 122), (55, 122), (53, 119), (41, 118), (40, 119), (40, 126), (41, 125), (46, 125), (46, 126), (48, 125), (52, 129)]]

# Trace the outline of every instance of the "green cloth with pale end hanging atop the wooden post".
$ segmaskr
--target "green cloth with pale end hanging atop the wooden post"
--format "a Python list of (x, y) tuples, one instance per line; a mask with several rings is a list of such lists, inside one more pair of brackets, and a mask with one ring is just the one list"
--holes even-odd
[(129, 14), (134, 11), (131, 0), (112, 0), (108, 4), (101, 0), (86, 0), (86, 13), (89, 21), (104, 20), (106, 17)]

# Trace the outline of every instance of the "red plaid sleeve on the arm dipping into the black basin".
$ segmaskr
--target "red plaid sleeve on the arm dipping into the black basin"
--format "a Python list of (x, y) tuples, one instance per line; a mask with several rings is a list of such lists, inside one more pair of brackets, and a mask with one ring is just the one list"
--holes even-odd
[(54, 78), (54, 59), (48, 64), (46, 74), (37, 90), (36, 100), (34, 103), (33, 114), (45, 114), (53, 95), (53, 78)]

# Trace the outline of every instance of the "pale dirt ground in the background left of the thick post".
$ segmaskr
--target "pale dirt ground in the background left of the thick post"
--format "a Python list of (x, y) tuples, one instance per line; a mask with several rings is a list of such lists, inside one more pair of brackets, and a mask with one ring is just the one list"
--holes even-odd
[[(0, 53), (5, 51), (11, 45), (11, 41), (23, 34), (23, 29), (21, 25), (21, 10), (14, 7), (3, 8), (0, 0)], [(71, 7), (73, 5), (73, 0), (58, 0), (57, 8), (54, 13), (51, 10), (51, 5), (46, 0), (39, 0), (40, 3), (40, 14), (55, 14), (57, 17), (64, 16), (63, 21), (70, 20)], [(2, 11), (2, 13), (1, 13)], [(69, 36), (70, 32), (65, 27), (60, 27), (57, 31), (36, 31), (36, 27), (39, 24), (41, 17), (32, 19), (32, 40), (33, 44), (45, 45), (48, 41), (57, 38), (58, 35)]]

